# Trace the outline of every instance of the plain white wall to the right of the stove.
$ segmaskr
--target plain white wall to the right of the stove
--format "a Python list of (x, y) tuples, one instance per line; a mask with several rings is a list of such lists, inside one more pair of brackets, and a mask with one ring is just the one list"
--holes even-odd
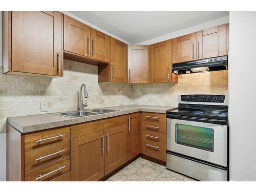
[(256, 181), (256, 12), (229, 21), (230, 180)]

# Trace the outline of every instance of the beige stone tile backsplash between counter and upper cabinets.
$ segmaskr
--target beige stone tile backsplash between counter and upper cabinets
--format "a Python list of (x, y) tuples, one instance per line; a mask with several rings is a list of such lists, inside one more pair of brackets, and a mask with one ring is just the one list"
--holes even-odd
[[(0, 70), (0, 133), (6, 132), (7, 117), (78, 109), (81, 83), (88, 90), (88, 109), (106, 106), (147, 104), (177, 106), (180, 94), (228, 94), (227, 71), (179, 75), (179, 83), (98, 83), (97, 67), (65, 60), (64, 76), (3, 75)], [(85, 100), (85, 99), (84, 99)]]

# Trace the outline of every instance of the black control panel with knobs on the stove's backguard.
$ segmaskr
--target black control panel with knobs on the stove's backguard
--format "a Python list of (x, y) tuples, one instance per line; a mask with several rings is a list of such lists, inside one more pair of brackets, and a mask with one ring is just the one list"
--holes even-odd
[(214, 102), (224, 103), (225, 95), (181, 95), (181, 101), (185, 102)]

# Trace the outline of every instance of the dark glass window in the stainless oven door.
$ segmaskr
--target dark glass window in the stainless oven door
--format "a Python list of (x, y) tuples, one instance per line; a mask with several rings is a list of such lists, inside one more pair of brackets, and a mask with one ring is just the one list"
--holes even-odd
[(214, 151), (214, 130), (207, 127), (176, 124), (176, 143)]

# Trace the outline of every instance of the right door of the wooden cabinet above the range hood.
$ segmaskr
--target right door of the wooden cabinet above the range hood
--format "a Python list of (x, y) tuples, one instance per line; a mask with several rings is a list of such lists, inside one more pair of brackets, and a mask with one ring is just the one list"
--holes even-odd
[[(203, 58), (226, 55), (226, 25), (220, 25), (202, 31)], [(200, 48), (197, 48), (200, 49)]]

